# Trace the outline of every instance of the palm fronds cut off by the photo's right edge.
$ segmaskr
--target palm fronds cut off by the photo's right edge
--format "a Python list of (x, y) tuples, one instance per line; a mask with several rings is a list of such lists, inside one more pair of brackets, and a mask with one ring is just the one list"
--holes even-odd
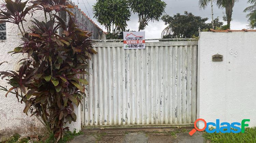
[(256, 0), (248, 0), (247, 3), (252, 4), (244, 9), (244, 12), (249, 12), (246, 16), (249, 22), (248, 28), (254, 29), (256, 28)]

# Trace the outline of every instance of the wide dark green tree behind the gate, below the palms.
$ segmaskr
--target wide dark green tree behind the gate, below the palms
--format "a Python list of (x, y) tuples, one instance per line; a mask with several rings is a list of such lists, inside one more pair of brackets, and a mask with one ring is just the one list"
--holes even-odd
[[(162, 31), (162, 38), (191, 38), (199, 36), (198, 28), (204, 31), (209, 31), (212, 28), (212, 23), (206, 23), (208, 18), (195, 16), (192, 13), (184, 12), (184, 15), (177, 13), (174, 16), (163, 15), (161, 18), (166, 25)], [(221, 28), (223, 22), (219, 18), (214, 19), (214, 27)]]

